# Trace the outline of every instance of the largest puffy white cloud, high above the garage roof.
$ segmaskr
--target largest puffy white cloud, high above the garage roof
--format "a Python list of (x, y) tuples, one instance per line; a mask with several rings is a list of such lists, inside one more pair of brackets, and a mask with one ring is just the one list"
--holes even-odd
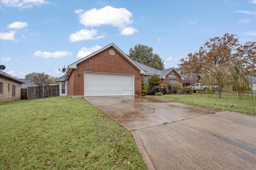
[(79, 15), (80, 23), (85, 26), (112, 25), (120, 29), (132, 23), (131, 17), (132, 13), (125, 8), (113, 8), (112, 6), (105, 6), (98, 10), (94, 8)]

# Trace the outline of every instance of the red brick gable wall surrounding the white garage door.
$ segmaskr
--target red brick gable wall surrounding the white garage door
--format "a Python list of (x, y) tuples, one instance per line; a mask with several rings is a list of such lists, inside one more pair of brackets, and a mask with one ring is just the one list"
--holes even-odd
[[(110, 50), (114, 50), (115, 54), (110, 55)], [(140, 70), (132, 65), (113, 47), (109, 47), (108, 49), (105, 49), (104, 51), (101, 51), (100, 53), (90, 57), (89, 59), (77, 64), (76, 69), (72, 71), (68, 79), (69, 96), (84, 95), (84, 71), (133, 74), (135, 94), (141, 93), (143, 75), (140, 74)]]

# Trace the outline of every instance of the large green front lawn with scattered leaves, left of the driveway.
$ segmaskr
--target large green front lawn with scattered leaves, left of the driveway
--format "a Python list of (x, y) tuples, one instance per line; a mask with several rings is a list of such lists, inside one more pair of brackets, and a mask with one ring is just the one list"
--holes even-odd
[(82, 98), (0, 103), (0, 169), (147, 169), (130, 131)]

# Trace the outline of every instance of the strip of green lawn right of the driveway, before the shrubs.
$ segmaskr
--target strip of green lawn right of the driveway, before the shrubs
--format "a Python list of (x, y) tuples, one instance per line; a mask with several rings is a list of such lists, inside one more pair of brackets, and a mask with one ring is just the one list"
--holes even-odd
[[(222, 95), (222, 98), (218, 98), (217, 94), (169, 94), (154, 96), (154, 98), (226, 111), (256, 114), (255, 96)], [(230, 107), (232, 105), (234, 107)]]

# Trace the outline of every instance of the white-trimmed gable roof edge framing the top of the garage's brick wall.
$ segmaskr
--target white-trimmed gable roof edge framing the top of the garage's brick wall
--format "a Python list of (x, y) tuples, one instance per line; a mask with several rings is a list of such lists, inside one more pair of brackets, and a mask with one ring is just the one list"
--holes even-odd
[[(77, 64), (89, 59), (90, 57), (93, 57), (94, 55), (104, 51), (105, 49), (108, 49), (109, 47), (113, 47), (116, 51), (118, 51), (118, 53), (120, 53), (126, 60), (128, 60), (132, 65), (134, 65), (138, 70), (140, 70), (140, 74), (145, 74), (145, 71), (140, 68), (140, 66), (138, 66), (138, 64), (136, 64), (132, 59), (130, 59), (122, 50), (120, 50), (114, 43), (111, 43), (109, 45), (107, 45), (106, 47), (103, 47), (102, 49), (99, 49), (98, 51), (95, 51), (94, 53), (76, 61), (75, 63), (72, 63), (68, 66), (66, 74), (64, 79), (62, 80), (68, 80), (68, 77), (70, 76), (71, 72), (73, 69), (76, 68)], [(58, 78), (58, 81), (60, 81), (60, 79)]]

